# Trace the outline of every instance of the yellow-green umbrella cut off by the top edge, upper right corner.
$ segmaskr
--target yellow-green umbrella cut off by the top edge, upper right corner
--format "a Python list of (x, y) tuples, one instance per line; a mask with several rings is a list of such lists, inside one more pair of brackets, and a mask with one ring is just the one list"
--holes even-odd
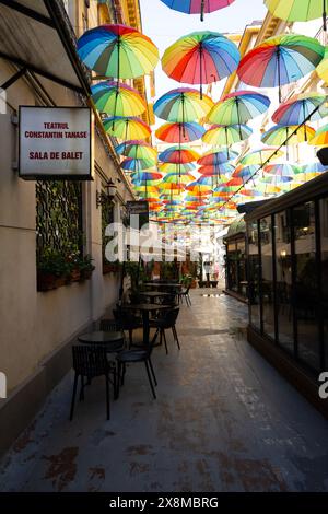
[(307, 22), (323, 16), (324, 31), (327, 30), (326, 0), (265, 0), (271, 14), (286, 22)]

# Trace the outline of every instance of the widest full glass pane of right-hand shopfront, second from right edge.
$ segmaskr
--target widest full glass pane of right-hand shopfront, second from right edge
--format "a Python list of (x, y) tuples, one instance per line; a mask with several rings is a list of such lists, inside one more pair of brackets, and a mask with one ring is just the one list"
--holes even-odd
[(293, 209), (295, 282), (293, 308), (297, 327), (297, 357), (318, 370), (320, 362), (315, 203)]

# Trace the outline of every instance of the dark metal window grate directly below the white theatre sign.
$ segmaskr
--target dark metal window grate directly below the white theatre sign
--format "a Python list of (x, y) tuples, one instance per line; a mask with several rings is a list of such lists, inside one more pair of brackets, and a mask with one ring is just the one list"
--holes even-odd
[(63, 256), (83, 253), (82, 184), (80, 182), (36, 183), (37, 261), (45, 250)]

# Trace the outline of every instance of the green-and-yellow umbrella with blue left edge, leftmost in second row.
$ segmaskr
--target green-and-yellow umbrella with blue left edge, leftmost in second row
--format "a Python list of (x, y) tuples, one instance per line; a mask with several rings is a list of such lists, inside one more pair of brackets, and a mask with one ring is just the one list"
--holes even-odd
[(91, 87), (92, 100), (101, 113), (113, 116), (139, 116), (147, 109), (138, 91), (121, 82), (105, 81)]

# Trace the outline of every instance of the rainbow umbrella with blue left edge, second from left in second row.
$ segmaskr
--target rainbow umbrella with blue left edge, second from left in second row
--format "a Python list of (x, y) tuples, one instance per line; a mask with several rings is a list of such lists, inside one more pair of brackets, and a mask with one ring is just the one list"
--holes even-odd
[(197, 90), (178, 87), (168, 91), (155, 102), (154, 113), (167, 121), (185, 124), (204, 118), (213, 105), (209, 96), (202, 95), (200, 98)]

